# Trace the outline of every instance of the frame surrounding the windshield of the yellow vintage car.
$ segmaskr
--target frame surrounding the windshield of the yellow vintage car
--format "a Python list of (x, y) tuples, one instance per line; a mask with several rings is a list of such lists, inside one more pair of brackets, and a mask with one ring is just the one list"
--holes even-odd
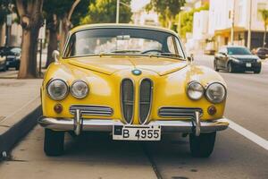
[[(97, 53), (97, 54), (87, 54), (87, 55), (71, 55), (68, 56), (68, 52), (67, 52), (67, 48), (70, 46), (71, 43), (71, 38), (76, 34), (79, 33), (81, 31), (89, 31), (89, 30), (98, 30), (98, 29), (102, 29), (102, 30), (110, 30), (110, 29), (125, 29), (125, 30), (149, 30), (149, 31), (154, 31), (154, 32), (160, 32), (160, 33), (166, 33), (167, 35), (172, 37), (172, 43), (175, 49), (175, 54), (168, 54), (163, 52), (161, 54), (131, 54), (131, 53)], [(163, 44), (162, 44), (163, 45)], [(180, 53), (179, 53), (180, 51)], [(169, 31), (164, 31), (164, 30), (157, 30), (157, 29), (147, 29), (147, 28), (139, 28), (139, 27), (97, 27), (97, 28), (87, 28), (87, 29), (81, 29), (81, 30), (77, 30), (73, 33), (69, 33), (68, 38), (66, 40), (66, 43), (64, 45), (63, 48), (63, 54), (62, 54), (62, 58), (63, 59), (69, 59), (69, 58), (75, 58), (75, 57), (83, 57), (83, 56), (96, 56), (96, 55), (140, 55), (140, 56), (157, 56), (157, 57), (166, 57), (166, 58), (173, 58), (173, 59), (179, 59), (179, 60), (185, 60), (186, 61), (186, 54), (185, 54), (185, 50), (181, 44), (180, 38), (178, 36), (176, 36), (174, 33), (171, 33)]]

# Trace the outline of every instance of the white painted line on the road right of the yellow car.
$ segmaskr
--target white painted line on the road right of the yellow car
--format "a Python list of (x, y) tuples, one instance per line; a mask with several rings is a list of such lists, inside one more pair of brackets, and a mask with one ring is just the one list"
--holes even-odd
[(268, 141), (260, 136), (256, 135), (254, 132), (250, 132), (239, 124), (232, 122), (230, 119), (227, 119), (229, 126), (232, 130), (239, 132), (241, 135), (246, 137), (248, 140), (255, 142), (255, 144), (261, 146), (262, 148), (268, 150)]

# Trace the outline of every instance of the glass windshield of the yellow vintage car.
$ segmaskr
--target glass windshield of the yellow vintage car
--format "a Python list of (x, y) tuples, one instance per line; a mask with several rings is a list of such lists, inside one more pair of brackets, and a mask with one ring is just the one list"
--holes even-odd
[(107, 28), (81, 30), (68, 42), (63, 57), (83, 55), (164, 55), (185, 58), (180, 41), (158, 30)]

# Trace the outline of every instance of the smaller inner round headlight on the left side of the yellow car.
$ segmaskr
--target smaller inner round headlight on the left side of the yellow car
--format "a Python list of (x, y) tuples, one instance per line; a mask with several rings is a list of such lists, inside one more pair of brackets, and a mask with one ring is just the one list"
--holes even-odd
[(74, 81), (71, 85), (71, 95), (75, 98), (87, 97), (88, 84), (85, 81)]

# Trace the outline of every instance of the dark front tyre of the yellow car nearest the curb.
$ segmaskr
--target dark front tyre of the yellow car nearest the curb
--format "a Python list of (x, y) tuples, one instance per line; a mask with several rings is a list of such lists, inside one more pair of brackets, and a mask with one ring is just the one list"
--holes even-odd
[(44, 151), (47, 156), (60, 156), (64, 151), (64, 132), (45, 129)]

